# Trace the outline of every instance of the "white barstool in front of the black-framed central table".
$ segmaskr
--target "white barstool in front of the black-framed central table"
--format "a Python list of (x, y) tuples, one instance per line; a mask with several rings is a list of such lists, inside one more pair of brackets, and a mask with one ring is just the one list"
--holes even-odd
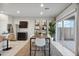
[(42, 48), (44, 48), (44, 55), (46, 55), (45, 45), (46, 45), (45, 38), (36, 38), (36, 40), (35, 40), (35, 46), (36, 46), (35, 55), (36, 55), (37, 48), (41, 48), (41, 50), (42, 50)]

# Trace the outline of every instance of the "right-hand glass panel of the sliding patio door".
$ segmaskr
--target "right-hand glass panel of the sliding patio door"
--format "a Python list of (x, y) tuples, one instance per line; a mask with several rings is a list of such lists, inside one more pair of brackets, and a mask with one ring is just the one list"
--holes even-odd
[(64, 42), (63, 45), (75, 51), (75, 16), (69, 17), (64, 23)]

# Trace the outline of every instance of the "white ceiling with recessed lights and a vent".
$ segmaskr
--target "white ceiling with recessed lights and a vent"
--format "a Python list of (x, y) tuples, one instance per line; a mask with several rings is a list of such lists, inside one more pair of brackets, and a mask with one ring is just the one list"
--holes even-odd
[[(43, 17), (55, 17), (70, 3), (44, 3), (44, 7), (40, 7), (40, 3), (4, 3), (1, 5), (1, 11), (11, 16), (40, 17), (42, 11)], [(17, 11), (20, 11), (20, 13), (17, 14)]]

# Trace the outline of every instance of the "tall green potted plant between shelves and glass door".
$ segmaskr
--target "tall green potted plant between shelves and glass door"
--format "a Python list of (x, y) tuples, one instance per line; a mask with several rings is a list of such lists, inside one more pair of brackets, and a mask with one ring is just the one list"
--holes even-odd
[(55, 21), (52, 20), (49, 23), (49, 35), (51, 36), (51, 38), (53, 38), (53, 40), (55, 41)]

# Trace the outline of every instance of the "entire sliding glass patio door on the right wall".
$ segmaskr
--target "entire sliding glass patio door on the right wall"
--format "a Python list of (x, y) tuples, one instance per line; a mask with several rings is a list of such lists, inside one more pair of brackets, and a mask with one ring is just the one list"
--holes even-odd
[(56, 22), (57, 41), (75, 52), (75, 16)]

